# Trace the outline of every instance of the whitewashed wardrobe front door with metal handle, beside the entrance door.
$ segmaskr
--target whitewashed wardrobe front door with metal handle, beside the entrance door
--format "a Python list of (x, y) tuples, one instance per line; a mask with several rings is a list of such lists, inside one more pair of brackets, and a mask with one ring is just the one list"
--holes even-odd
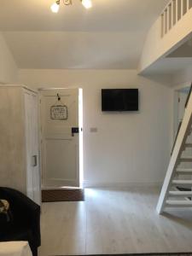
[(38, 96), (25, 90), (26, 122), (26, 192), (41, 204), (40, 171), (38, 163)]

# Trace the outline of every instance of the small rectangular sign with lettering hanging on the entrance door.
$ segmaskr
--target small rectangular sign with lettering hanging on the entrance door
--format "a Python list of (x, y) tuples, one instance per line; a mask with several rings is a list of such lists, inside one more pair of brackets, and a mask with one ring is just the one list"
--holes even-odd
[(67, 106), (57, 105), (50, 107), (50, 119), (66, 120), (67, 118)]

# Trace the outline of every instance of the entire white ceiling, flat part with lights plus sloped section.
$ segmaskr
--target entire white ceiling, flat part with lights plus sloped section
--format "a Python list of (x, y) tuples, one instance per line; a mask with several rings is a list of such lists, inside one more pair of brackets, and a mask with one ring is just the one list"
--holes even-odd
[(149, 27), (168, 0), (1, 0), (0, 31), (20, 68), (136, 68)]

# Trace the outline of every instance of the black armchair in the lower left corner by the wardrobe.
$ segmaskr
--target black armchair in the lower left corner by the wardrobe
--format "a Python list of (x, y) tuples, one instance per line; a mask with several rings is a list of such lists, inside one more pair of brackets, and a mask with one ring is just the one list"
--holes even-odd
[(0, 241), (28, 241), (32, 255), (38, 255), (41, 244), (40, 207), (15, 189), (0, 187), (0, 199), (9, 201), (13, 219), (0, 227)]

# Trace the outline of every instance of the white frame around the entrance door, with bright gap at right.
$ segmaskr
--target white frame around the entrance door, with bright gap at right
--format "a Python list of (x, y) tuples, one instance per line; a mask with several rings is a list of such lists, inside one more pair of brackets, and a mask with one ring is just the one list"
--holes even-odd
[[(83, 89), (80, 87), (40, 87), (38, 88), (38, 133), (39, 133), (39, 169), (41, 173), (41, 189), (55, 189), (53, 187), (44, 188), (43, 184), (43, 161), (42, 161), (42, 124), (41, 124), (41, 101), (42, 101), (42, 90), (69, 90), (77, 89), (79, 90), (79, 188), (84, 187), (84, 119), (83, 119)], [(58, 188), (60, 189), (60, 188)]]

